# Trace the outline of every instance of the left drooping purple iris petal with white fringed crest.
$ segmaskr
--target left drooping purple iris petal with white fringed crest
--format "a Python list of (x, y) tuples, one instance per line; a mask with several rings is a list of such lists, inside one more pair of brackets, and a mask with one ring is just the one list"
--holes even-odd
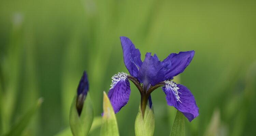
[(115, 113), (117, 113), (129, 101), (131, 89), (126, 73), (118, 73), (112, 79), (108, 97)]

